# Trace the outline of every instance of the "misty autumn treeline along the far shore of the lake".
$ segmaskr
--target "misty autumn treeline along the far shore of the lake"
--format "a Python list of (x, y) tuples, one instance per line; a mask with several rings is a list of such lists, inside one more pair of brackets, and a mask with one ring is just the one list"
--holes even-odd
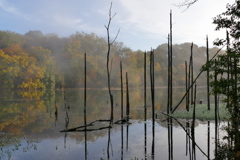
[[(173, 45), (173, 85), (185, 85), (185, 60), (189, 60), (190, 43)], [(210, 57), (218, 48), (210, 49)], [(84, 53), (87, 54), (87, 86), (107, 87), (106, 39), (94, 33), (79, 33), (68, 38), (29, 31), (24, 35), (0, 31), (0, 88), (54, 89), (82, 88)], [(156, 86), (167, 85), (168, 45), (155, 51)], [(194, 45), (194, 74), (206, 62), (206, 48)], [(114, 42), (110, 53), (111, 86), (119, 87), (119, 63), (129, 73), (129, 85), (143, 85), (144, 51), (133, 51), (122, 42)], [(148, 57), (149, 58), (149, 57)], [(148, 64), (149, 65), (149, 64)], [(205, 76), (198, 84), (205, 85)]]

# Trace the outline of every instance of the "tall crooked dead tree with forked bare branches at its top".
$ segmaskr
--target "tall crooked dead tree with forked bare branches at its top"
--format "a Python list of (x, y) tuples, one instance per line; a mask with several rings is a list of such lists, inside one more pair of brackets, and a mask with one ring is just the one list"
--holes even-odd
[(113, 124), (113, 95), (112, 95), (112, 92), (111, 92), (111, 81), (110, 81), (111, 69), (109, 67), (109, 57), (110, 57), (111, 46), (115, 42), (115, 40), (117, 39), (117, 36), (118, 36), (120, 30), (118, 30), (118, 33), (115, 36), (115, 38), (113, 39), (113, 41), (110, 41), (110, 33), (109, 33), (110, 24), (111, 24), (112, 19), (116, 15), (116, 13), (115, 13), (112, 16), (111, 10), (112, 10), (112, 3), (110, 5), (110, 9), (109, 9), (108, 24), (107, 24), (107, 26), (105, 25), (105, 28), (107, 30), (107, 44), (108, 44), (108, 50), (107, 50), (107, 76), (108, 76), (108, 93), (109, 93), (109, 96), (110, 96), (110, 104), (111, 104), (110, 125), (112, 126), (112, 124)]

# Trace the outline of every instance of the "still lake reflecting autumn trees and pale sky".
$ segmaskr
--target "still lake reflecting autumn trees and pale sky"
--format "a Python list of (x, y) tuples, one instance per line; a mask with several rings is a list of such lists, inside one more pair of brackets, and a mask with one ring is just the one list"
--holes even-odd
[[(192, 155), (192, 141), (179, 124), (186, 128), (188, 121), (167, 120), (167, 117), (160, 113), (166, 111), (166, 88), (155, 90), (157, 118), (154, 126), (151, 121), (150, 91), (147, 93), (147, 121), (144, 121), (143, 91), (132, 89), (130, 90), (131, 124), (115, 124), (111, 129), (89, 132), (60, 132), (84, 125), (83, 92), (81, 89), (65, 90), (65, 92), (2, 91), (0, 93), (0, 160), (185, 160)], [(173, 90), (173, 106), (180, 101), (184, 93), (182, 88)], [(113, 95), (114, 119), (118, 120), (121, 117), (120, 91), (113, 90)], [(125, 96), (124, 94), (124, 100)], [(206, 88), (199, 89), (197, 99), (206, 101)], [(183, 102), (179, 109), (184, 107)], [(109, 117), (108, 91), (87, 90), (87, 123)], [(191, 121), (189, 123), (191, 126)], [(108, 122), (99, 122), (92, 128), (96, 129), (108, 124)], [(172, 134), (169, 134), (170, 130)], [(187, 130), (190, 134), (190, 128)], [(209, 154), (211, 159), (214, 158), (215, 123), (196, 120), (194, 131), (195, 142), (202, 150), (195, 147), (196, 159), (208, 159), (202, 152)]]

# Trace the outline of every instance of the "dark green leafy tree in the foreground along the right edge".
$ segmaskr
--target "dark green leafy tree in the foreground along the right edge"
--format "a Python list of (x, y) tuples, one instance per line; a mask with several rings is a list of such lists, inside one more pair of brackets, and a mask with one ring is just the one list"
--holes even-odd
[[(239, 108), (239, 57), (240, 57), (240, 1), (236, 0), (234, 4), (227, 5), (227, 11), (219, 14), (213, 19), (216, 24), (216, 30), (226, 29), (225, 39), (217, 39), (214, 44), (217, 46), (226, 46), (225, 54), (218, 55), (215, 60), (210, 61), (205, 66), (212, 71), (210, 78), (217, 77), (217, 80), (211, 82), (212, 93), (221, 94), (226, 98), (224, 102), (231, 115), (230, 126), (226, 128), (227, 135), (224, 137), (233, 143), (218, 145), (215, 152), (215, 159), (239, 159), (240, 158), (240, 108)], [(205, 68), (205, 69), (206, 69)], [(216, 78), (215, 78), (216, 79)]]

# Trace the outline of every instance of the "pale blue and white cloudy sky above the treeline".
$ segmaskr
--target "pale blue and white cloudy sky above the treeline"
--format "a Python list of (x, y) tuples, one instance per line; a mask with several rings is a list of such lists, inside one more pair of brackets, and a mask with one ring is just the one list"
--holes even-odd
[[(41, 30), (68, 37), (78, 32), (106, 37), (104, 25), (113, 2), (116, 13), (111, 36), (120, 29), (117, 41), (133, 50), (150, 50), (167, 43), (169, 13), (173, 14), (173, 43), (194, 42), (205, 46), (208, 34), (212, 43), (223, 38), (225, 31), (214, 31), (212, 19), (235, 0), (199, 0), (188, 10), (178, 8), (185, 0), (0, 0), (0, 30), (25, 34)], [(184, 12), (183, 12), (184, 11)]]

